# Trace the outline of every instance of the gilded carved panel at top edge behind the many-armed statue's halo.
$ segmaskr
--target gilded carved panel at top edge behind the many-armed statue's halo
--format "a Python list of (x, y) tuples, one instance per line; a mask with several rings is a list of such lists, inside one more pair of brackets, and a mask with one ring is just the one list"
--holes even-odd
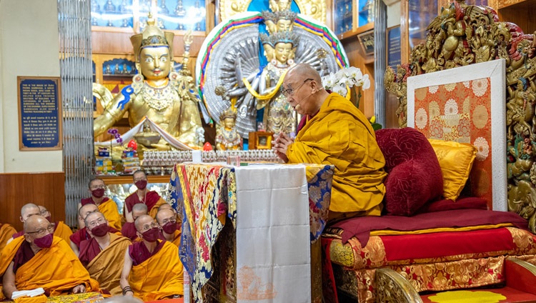
[[(266, 1), (266, 0), (265, 0)], [(289, 9), (291, 1), (268, 0), (272, 11)], [(247, 11), (252, 0), (221, 0), (219, 1), (219, 18), (229, 19), (233, 15)], [(296, 0), (299, 12), (326, 24), (327, 6), (326, 0)]]

